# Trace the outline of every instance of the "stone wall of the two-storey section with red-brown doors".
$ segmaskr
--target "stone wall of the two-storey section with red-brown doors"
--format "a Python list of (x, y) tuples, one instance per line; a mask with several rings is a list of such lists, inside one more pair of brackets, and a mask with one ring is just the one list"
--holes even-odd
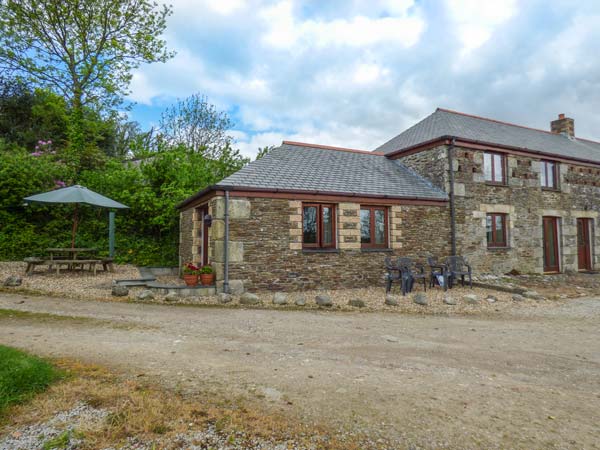
[[(439, 180), (439, 170), (448, 171), (447, 160), (440, 162), (444, 153), (436, 148), (401, 161), (420, 172), (432, 167), (433, 178)], [(453, 166), (457, 253), (465, 255), (477, 272), (543, 272), (543, 216), (559, 217), (562, 271), (578, 269), (577, 218), (594, 219), (592, 263), (600, 265), (600, 169), (562, 163), (560, 188), (551, 191), (541, 188), (540, 161), (535, 158), (507, 155), (506, 186), (484, 181), (482, 151), (457, 147)], [(486, 214), (494, 212), (507, 214), (508, 248), (487, 248)]]

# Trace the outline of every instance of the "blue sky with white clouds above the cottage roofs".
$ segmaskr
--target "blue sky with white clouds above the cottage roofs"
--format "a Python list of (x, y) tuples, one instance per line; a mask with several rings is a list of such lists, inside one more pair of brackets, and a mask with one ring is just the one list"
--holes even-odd
[(373, 150), (448, 108), (600, 140), (598, 0), (172, 0), (177, 55), (133, 74), (130, 118), (194, 93), (235, 147)]

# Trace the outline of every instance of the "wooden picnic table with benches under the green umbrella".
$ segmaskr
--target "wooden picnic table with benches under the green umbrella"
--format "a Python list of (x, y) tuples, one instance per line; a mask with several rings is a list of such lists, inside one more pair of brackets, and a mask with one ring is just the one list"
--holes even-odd
[(98, 264), (102, 264), (105, 272), (108, 270), (114, 272), (113, 259), (97, 258), (95, 256), (96, 251), (96, 248), (47, 248), (47, 257), (25, 258), (27, 263), (25, 273), (27, 275), (33, 274), (35, 267), (40, 265), (47, 265), (49, 271), (56, 269), (57, 274), (60, 274), (61, 267), (66, 267), (68, 270), (77, 268), (84, 270), (87, 265), (88, 270), (96, 275)]

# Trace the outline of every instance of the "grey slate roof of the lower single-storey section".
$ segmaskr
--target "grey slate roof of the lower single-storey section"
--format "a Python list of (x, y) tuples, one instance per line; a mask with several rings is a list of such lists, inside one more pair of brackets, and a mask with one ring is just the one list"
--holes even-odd
[(446, 200), (446, 193), (396, 160), (372, 152), (284, 143), (219, 182), (235, 187)]

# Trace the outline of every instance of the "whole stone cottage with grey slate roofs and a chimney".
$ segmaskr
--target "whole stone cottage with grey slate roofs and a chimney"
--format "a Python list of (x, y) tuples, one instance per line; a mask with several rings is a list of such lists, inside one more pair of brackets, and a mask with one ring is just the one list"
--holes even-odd
[(179, 205), (180, 260), (219, 285), (381, 284), (385, 256), (478, 273), (599, 263), (600, 143), (438, 108), (374, 151), (284, 141)]

